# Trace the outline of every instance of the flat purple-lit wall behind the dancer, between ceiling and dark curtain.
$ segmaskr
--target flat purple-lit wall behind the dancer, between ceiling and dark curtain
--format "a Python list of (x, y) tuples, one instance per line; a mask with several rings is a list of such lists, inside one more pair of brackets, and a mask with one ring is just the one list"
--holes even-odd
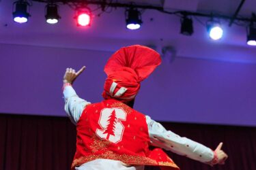
[[(65, 116), (66, 67), (86, 65), (74, 88), (100, 101), (112, 53), (0, 44), (0, 113)], [(155, 120), (256, 126), (255, 88), (256, 65), (178, 57), (142, 83), (135, 108)]]

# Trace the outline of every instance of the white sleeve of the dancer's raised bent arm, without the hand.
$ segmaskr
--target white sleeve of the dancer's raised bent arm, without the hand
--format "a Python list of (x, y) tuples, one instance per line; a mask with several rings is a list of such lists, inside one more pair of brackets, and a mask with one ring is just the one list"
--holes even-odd
[(72, 86), (63, 86), (63, 97), (65, 100), (65, 111), (68, 114), (71, 122), (76, 124), (79, 121), (83, 110), (85, 109), (86, 105), (91, 104), (84, 99), (79, 98), (76, 95), (76, 91)]

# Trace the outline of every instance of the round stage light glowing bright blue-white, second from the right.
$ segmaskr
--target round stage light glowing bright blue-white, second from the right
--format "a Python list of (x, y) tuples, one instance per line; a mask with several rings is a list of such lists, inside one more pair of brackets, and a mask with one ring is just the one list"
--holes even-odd
[(211, 39), (218, 40), (223, 37), (223, 29), (218, 22), (210, 21), (207, 24), (207, 30)]

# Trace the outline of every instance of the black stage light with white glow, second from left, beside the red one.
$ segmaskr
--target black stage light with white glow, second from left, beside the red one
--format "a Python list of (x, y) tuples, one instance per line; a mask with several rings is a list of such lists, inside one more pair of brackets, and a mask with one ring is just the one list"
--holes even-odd
[(46, 22), (48, 24), (56, 24), (59, 21), (58, 6), (56, 4), (46, 5)]

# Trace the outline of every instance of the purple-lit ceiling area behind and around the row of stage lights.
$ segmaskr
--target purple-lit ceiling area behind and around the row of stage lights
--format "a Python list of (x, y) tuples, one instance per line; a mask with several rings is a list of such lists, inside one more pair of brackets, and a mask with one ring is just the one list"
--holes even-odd
[[(194, 34), (180, 34), (180, 18), (163, 14), (156, 10), (144, 10), (143, 25), (139, 30), (128, 30), (125, 26), (124, 8), (97, 16), (94, 12), (90, 27), (77, 27), (74, 11), (66, 5), (60, 5), (61, 20), (50, 25), (44, 19), (44, 3), (32, 1), (31, 18), (26, 24), (12, 20), (12, 3), (0, 0), (0, 44), (25, 44), (32, 46), (51, 46), (59, 48), (78, 48), (87, 50), (115, 51), (122, 46), (143, 44), (155, 46), (159, 52), (165, 46), (175, 49), (176, 57), (202, 58), (239, 63), (256, 63), (256, 47), (246, 45), (245, 27), (222, 20), (225, 34), (220, 41), (209, 39), (203, 23), (208, 18), (193, 18)], [(120, 0), (120, 3), (130, 1)], [(188, 10), (206, 14), (232, 16), (240, 0), (137, 0), (137, 4), (156, 5), (165, 10)], [(246, 0), (239, 16), (250, 17), (255, 12), (256, 1)], [(91, 6), (94, 8), (94, 6)]]

